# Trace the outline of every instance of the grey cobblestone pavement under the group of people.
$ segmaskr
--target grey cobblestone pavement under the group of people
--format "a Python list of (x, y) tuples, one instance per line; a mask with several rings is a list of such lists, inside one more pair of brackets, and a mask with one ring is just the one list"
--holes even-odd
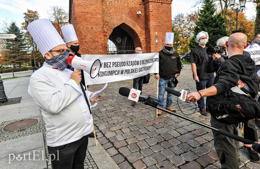
[[(178, 80), (175, 90), (196, 90), (191, 70), (182, 69)], [(93, 109), (98, 141), (121, 169), (220, 168), (210, 129), (168, 113), (156, 118), (156, 109), (140, 102), (131, 106), (132, 101), (118, 91), (120, 87), (132, 88), (132, 84), (133, 80), (109, 83), (102, 100)], [(151, 76), (142, 94), (156, 96), (156, 85), (157, 81)], [(89, 90), (97, 91), (103, 86), (90, 85)], [(176, 101), (174, 97), (172, 107), (176, 113), (182, 114), (181, 108), (189, 114), (186, 117), (210, 125), (210, 115), (201, 116), (198, 109), (193, 113), (196, 107), (193, 103), (179, 101), (179, 108)], [(260, 164), (250, 161), (248, 151), (242, 148), (242, 143), (240, 145), (240, 167), (260, 168)]]

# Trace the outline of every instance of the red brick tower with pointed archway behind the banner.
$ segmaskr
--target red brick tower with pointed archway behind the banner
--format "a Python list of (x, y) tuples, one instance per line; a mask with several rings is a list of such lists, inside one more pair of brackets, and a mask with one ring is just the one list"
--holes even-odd
[(171, 4), (172, 0), (70, 0), (69, 22), (75, 27), (79, 52), (107, 54), (108, 40), (118, 54), (136, 47), (144, 53), (160, 51), (165, 32), (172, 31)]

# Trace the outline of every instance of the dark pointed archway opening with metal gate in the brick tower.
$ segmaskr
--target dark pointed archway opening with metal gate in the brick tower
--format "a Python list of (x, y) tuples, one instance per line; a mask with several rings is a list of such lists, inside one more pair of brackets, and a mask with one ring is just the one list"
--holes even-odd
[(109, 36), (107, 54), (133, 54), (134, 44), (130, 35), (117, 26)]

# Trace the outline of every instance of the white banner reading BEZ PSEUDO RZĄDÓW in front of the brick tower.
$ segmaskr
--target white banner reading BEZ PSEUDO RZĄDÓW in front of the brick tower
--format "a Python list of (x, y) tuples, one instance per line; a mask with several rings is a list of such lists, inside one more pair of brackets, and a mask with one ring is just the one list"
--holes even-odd
[(81, 55), (87, 61), (101, 61), (99, 74), (95, 78), (84, 71), (85, 84), (101, 84), (138, 78), (148, 73), (159, 72), (159, 53), (128, 55)]

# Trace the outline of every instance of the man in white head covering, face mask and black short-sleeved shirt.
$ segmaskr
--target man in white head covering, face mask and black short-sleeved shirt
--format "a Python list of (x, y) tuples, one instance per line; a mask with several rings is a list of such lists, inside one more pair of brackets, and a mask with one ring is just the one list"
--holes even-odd
[[(193, 79), (196, 81), (197, 91), (209, 88), (213, 85), (215, 76), (214, 73), (206, 73), (204, 71), (204, 62), (209, 57), (206, 53), (206, 43), (209, 41), (209, 35), (205, 31), (201, 31), (196, 36), (196, 42), (199, 44), (196, 48), (190, 52), (189, 62), (191, 62), (191, 69), (193, 73)], [(208, 98), (206, 99), (206, 109), (204, 103), (204, 97), (201, 97), (198, 101), (199, 112), (202, 115), (207, 115), (207, 108), (209, 104)]]

